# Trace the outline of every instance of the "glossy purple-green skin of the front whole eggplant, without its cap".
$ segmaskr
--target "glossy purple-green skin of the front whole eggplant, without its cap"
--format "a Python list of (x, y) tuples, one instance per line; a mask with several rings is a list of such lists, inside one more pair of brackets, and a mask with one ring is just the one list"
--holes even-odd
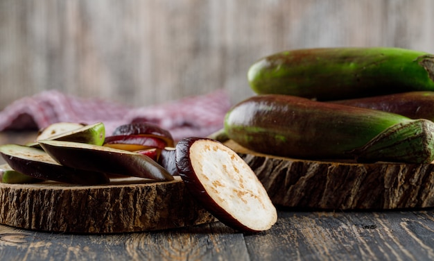
[(408, 117), (381, 110), (313, 101), (298, 96), (252, 96), (227, 112), (228, 137), (246, 149), (304, 159), (352, 158), (365, 145)]

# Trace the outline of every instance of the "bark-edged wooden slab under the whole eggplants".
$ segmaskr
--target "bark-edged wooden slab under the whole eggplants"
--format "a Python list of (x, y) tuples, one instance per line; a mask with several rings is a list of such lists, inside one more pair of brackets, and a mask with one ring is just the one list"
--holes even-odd
[(275, 205), (319, 210), (434, 207), (434, 165), (297, 160), (255, 153), (232, 140)]

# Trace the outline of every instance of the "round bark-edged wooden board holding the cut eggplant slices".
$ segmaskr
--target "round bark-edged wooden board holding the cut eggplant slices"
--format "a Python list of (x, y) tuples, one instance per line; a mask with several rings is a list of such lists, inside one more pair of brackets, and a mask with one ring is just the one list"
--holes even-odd
[(179, 176), (169, 182), (116, 178), (100, 186), (0, 183), (0, 202), (0, 224), (62, 233), (128, 233), (216, 221)]

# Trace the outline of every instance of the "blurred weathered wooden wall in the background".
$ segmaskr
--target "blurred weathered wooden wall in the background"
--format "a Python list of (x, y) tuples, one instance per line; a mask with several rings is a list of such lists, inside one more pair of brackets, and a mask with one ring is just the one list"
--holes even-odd
[(1, 0), (0, 109), (42, 90), (144, 106), (225, 88), (306, 47), (434, 52), (431, 0)]

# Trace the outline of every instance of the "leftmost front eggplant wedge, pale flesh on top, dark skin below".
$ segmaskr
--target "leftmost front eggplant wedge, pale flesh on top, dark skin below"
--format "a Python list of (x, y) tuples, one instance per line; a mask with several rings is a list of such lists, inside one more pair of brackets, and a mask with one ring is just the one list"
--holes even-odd
[(101, 172), (62, 166), (42, 149), (5, 144), (0, 146), (0, 154), (12, 169), (33, 178), (78, 185), (100, 185), (110, 182), (107, 175)]

